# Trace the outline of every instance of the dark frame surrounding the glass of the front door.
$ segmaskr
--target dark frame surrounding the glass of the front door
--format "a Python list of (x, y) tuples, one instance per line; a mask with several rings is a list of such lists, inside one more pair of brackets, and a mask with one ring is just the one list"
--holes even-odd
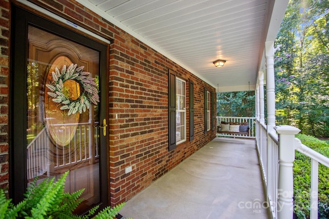
[[(52, 34), (59, 35), (78, 44), (100, 52), (100, 111), (99, 120), (102, 124), (108, 121), (108, 71), (107, 54), (109, 45), (101, 44), (92, 38), (74, 32), (60, 24), (52, 22), (40, 15), (12, 5), (11, 8), (11, 59), (10, 59), (10, 100), (9, 100), (9, 196), (14, 203), (23, 200), (27, 188), (26, 173), (26, 75), (28, 52), (28, 26), (32, 25)], [(25, 75), (25, 76), (24, 76)], [(108, 132), (107, 132), (108, 133)], [(107, 134), (100, 137), (100, 208), (108, 205), (108, 174), (107, 174)]]

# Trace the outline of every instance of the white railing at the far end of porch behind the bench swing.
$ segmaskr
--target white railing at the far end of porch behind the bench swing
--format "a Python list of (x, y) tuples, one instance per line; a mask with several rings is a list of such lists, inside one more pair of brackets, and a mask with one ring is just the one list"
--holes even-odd
[(242, 138), (255, 138), (256, 137), (256, 118), (255, 117), (231, 117), (231, 116), (216, 116), (217, 128), (221, 125), (221, 122), (225, 123), (248, 123), (249, 130), (248, 135), (237, 133), (217, 133), (217, 136), (221, 137), (242, 137)]

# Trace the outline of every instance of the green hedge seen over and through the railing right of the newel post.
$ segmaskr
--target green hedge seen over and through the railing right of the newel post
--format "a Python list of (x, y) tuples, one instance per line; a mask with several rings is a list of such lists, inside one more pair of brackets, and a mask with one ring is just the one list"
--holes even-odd
[[(329, 157), (329, 145), (313, 136), (296, 135), (302, 144)], [(329, 218), (329, 168), (319, 165), (319, 218)], [(298, 218), (309, 218), (310, 158), (296, 151), (294, 162), (295, 213)]]

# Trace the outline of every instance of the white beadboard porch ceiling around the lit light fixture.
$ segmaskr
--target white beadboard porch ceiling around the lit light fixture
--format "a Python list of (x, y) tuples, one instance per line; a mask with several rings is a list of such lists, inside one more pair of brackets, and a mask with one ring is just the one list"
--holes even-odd
[[(288, 0), (78, 0), (219, 91), (254, 90)], [(224, 67), (215, 67), (225, 59)]]

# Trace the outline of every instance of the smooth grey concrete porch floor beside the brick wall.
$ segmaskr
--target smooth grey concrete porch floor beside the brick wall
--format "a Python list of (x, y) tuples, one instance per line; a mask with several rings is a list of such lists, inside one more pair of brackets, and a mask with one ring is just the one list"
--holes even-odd
[(214, 138), (127, 201), (134, 219), (271, 218), (255, 141)]

